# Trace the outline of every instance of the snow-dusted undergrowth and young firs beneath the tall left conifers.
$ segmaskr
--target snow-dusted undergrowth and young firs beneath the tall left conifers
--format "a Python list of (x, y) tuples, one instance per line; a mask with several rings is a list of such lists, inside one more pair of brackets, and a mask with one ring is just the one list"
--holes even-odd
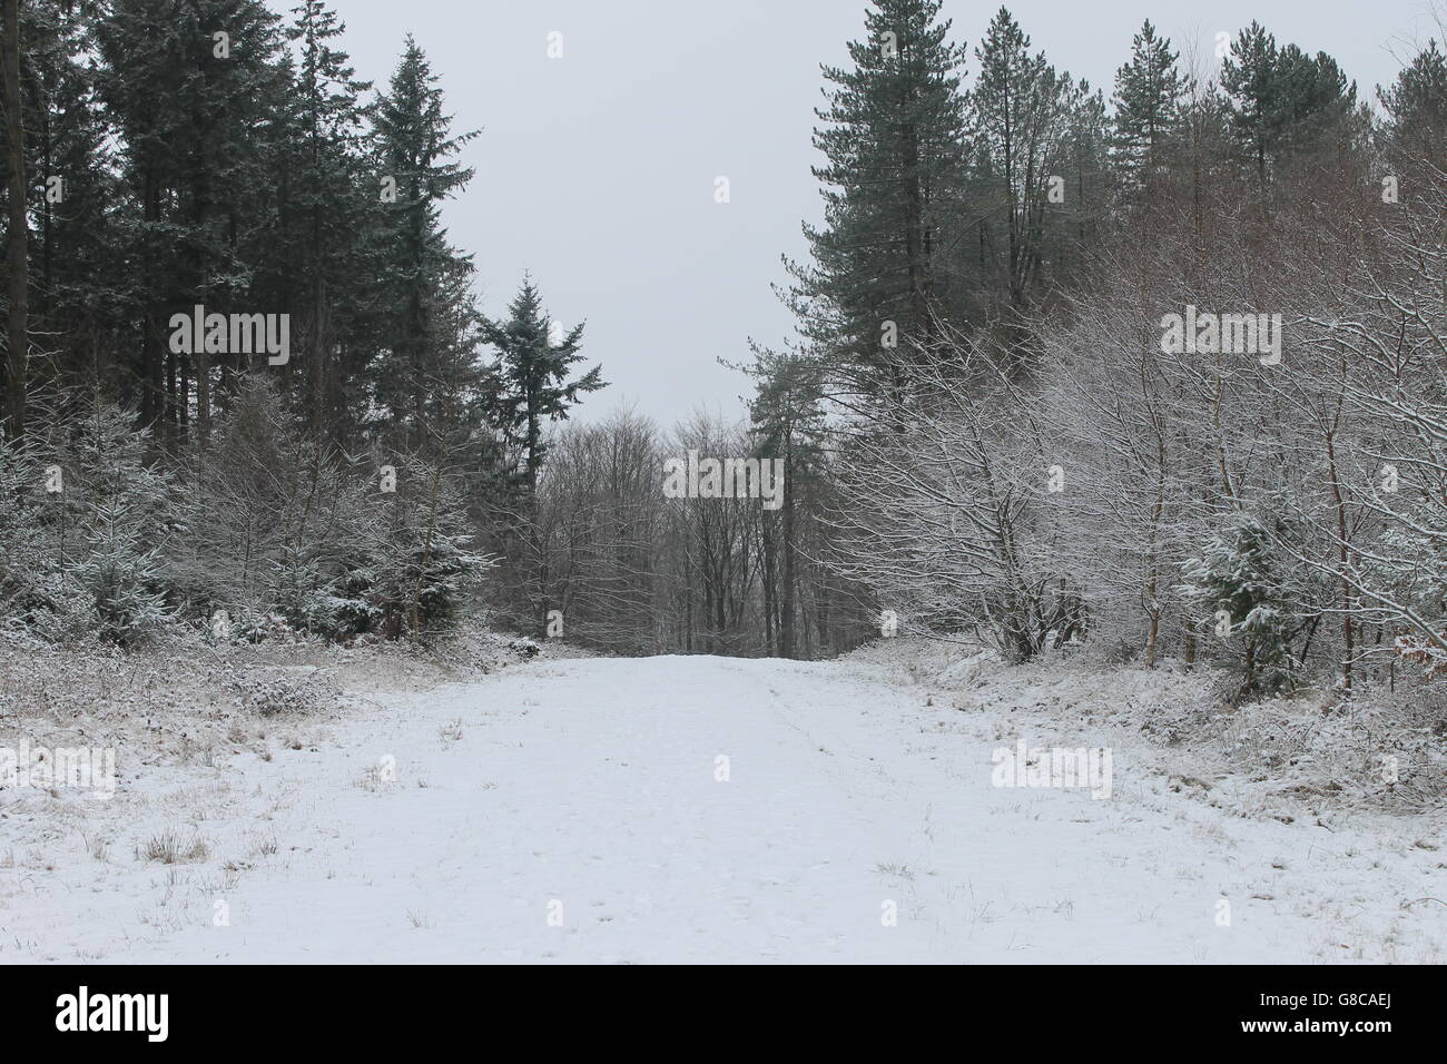
[(6, 624), (133, 646), (168, 622), (217, 641), (434, 631), (491, 560), (457, 478), (396, 459), (383, 479), (301, 433), (275, 389), (242, 385), (205, 449), (146, 457), (130, 411), (81, 407), (0, 444)]

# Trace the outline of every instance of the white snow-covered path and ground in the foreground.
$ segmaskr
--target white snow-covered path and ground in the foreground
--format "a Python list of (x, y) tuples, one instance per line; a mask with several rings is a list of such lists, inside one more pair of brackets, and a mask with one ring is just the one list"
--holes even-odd
[[(1233, 815), (946, 688), (554, 659), (123, 759), (111, 802), (0, 799), (0, 961), (1447, 960), (1438, 821)], [(994, 786), (1019, 738), (1108, 746), (1110, 798)]]

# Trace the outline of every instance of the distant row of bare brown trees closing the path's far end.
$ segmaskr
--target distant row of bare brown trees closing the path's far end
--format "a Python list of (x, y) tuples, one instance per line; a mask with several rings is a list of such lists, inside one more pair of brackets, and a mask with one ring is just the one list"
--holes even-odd
[[(690, 452), (783, 455), (781, 494), (689, 498), (660, 470)], [(671, 433), (618, 413), (559, 433), (540, 491), (543, 595), (567, 638), (612, 653), (825, 657), (878, 634), (867, 591), (820, 560), (797, 515), (831, 505), (822, 455), (696, 414)]]

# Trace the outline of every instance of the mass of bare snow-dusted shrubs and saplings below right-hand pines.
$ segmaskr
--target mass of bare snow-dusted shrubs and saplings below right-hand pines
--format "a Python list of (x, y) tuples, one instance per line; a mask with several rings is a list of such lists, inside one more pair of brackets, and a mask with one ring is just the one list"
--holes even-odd
[[(1447, 174), (1337, 180), (1350, 211), (1273, 203), (1269, 242), (1227, 203), (1127, 214), (1056, 305), (901, 343), (842, 449), (838, 569), (1014, 659), (1226, 664), (1231, 702), (1447, 676)], [(1255, 347), (1224, 314), (1172, 340), (1237, 307)]]

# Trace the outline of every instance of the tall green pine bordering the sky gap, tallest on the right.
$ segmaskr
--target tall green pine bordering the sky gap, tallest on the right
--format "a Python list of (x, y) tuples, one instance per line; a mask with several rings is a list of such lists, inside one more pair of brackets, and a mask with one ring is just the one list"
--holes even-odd
[(812, 262), (789, 263), (802, 332), (851, 389), (887, 381), (883, 334), (926, 340), (956, 298), (948, 246), (962, 168), (965, 51), (948, 41), (939, 0), (873, 0), (852, 68), (816, 114), (822, 227), (805, 226)]

